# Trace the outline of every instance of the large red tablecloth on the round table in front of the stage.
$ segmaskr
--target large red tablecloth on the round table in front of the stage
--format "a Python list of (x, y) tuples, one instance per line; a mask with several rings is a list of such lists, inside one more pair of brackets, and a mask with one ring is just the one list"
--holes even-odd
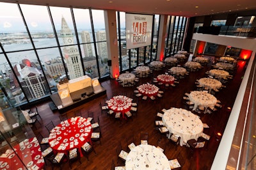
[(81, 156), (81, 146), (86, 142), (92, 144), (92, 125), (86, 118), (70, 118), (54, 127), (49, 135), (49, 144), (53, 151), (68, 153), (69, 150), (78, 148)]

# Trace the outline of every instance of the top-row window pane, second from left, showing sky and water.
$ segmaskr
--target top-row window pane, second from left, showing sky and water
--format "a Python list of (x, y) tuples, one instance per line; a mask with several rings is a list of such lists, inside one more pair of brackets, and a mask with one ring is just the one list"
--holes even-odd
[[(52, 24), (46, 6), (20, 4), (36, 48), (57, 46)], [(40, 19), (38, 15), (40, 13)]]

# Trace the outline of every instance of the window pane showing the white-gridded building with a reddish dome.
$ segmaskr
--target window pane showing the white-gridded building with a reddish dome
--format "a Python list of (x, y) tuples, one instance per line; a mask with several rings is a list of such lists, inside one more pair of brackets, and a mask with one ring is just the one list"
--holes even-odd
[(49, 95), (49, 88), (34, 50), (12, 52), (7, 56), (29, 100)]

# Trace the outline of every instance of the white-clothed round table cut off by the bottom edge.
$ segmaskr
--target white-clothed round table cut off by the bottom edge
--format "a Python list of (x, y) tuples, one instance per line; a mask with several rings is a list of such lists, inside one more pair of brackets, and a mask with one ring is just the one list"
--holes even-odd
[(168, 158), (156, 146), (140, 144), (126, 157), (125, 169), (171, 169)]

